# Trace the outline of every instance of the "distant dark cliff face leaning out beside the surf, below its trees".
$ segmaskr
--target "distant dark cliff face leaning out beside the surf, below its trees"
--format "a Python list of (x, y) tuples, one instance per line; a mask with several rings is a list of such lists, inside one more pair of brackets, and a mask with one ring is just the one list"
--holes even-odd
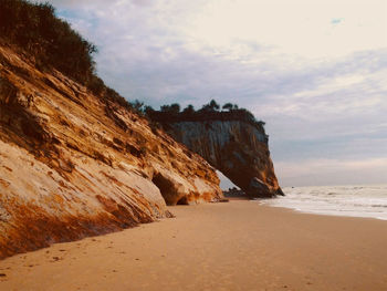
[(165, 124), (176, 141), (202, 156), (251, 197), (283, 195), (262, 127), (243, 121)]

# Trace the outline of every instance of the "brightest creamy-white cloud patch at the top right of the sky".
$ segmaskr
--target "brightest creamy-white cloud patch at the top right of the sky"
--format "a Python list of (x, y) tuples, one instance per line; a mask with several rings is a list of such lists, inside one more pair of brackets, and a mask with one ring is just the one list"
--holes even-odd
[[(209, 1), (186, 33), (237, 54), (234, 43), (243, 40), (272, 45), (278, 53), (332, 58), (386, 46), (386, 10), (383, 0)], [(333, 19), (341, 21), (332, 25)]]

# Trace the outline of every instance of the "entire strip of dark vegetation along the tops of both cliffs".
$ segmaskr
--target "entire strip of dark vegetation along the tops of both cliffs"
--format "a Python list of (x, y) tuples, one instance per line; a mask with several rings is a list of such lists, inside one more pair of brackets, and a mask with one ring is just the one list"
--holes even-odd
[(216, 101), (196, 111), (188, 105), (163, 105), (155, 111), (143, 102), (128, 102), (116, 91), (106, 86), (96, 75), (94, 53), (97, 48), (74, 31), (71, 25), (55, 15), (55, 9), (48, 2), (31, 3), (27, 0), (0, 0), (0, 43), (10, 44), (24, 52), (40, 70), (55, 69), (74, 81), (80, 82), (100, 96), (104, 102), (112, 101), (134, 111), (153, 122), (181, 122), (209, 119), (238, 119), (259, 126), (251, 112), (227, 103), (220, 111)]

